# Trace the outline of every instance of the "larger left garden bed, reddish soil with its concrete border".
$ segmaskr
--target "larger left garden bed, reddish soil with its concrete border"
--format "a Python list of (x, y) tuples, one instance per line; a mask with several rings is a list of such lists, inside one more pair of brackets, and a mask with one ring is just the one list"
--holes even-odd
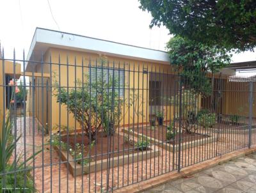
[[(75, 140), (76, 138), (76, 140)], [(147, 158), (157, 157), (160, 154), (159, 150), (154, 150), (154, 146), (150, 146), (147, 148), (147, 151), (141, 151), (136, 146), (124, 142), (124, 136), (114, 134), (111, 137), (111, 150), (108, 148), (108, 137), (105, 137), (101, 132), (97, 137), (97, 144), (89, 148), (88, 137), (84, 136), (84, 140), (82, 135), (68, 135), (68, 144), (72, 149), (75, 149), (75, 144), (84, 144), (84, 158), (90, 159), (90, 164), (84, 164), (82, 169), (82, 164), (79, 164), (67, 150), (61, 148), (59, 146), (54, 146), (54, 149), (61, 156), (62, 161), (67, 161), (68, 169), (72, 176), (79, 176), (88, 173), (92, 173), (95, 171), (100, 171), (101, 169), (107, 169), (108, 164), (110, 167), (123, 166), (128, 162), (141, 161), (146, 160)], [(114, 140), (114, 143), (113, 143)], [(67, 135), (61, 138), (61, 141), (67, 143)], [(134, 140), (135, 141), (135, 140)], [(136, 141), (135, 141), (136, 142)], [(114, 144), (114, 146), (113, 146)], [(151, 151), (151, 153), (150, 153)], [(90, 157), (89, 157), (90, 153)]]

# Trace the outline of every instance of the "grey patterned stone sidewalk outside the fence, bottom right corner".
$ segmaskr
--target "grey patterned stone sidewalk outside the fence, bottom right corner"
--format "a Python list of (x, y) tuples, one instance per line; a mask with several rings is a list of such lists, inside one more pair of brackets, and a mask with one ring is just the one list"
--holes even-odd
[(256, 153), (166, 183), (146, 192), (256, 192)]

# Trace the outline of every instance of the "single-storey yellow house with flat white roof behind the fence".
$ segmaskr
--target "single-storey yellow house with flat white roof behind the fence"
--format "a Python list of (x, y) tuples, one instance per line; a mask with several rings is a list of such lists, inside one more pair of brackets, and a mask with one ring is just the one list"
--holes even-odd
[[(148, 122), (150, 114), (155, 114), (154, 111), (158, 108), (159, 111), (164, 112), (165, 120), (173, 118), (173, 106), (156, 99), (172, 96), (177, 83), (177, 75), (173, 72), (167, 52), (42, 28), (36, 28), (27, 58), (30, 62), (26, 64), (26, 74), (30, 73), (35, 77), (34, 82), (30, 77), (30, 82), (31, 85), (35, 84), (36, 86), (34, 92), (29, 90), (29, 96), (35, 96), (35, 111), (33, 112), (32, 109), (33, 101), (28, 102), (28, 111), (31, 114), (33, 112), (42, 125), (49, 123), (50, 120), (52, 126), (59, 123), (67, 125), (66, 107), (62, 105), (59, 109), (57, 98), (50, 95), (51, 92), (47, 86), (54, 84), (55, 79), (59, 81), (59, 77), (61, 86), (74, 86), (74, 82), (77, 79), (81, 80), (83, 73), (88, 72), (89, 65), (95, 66), (100, 55), (108, 59), (110, 72), (113, 72), (113, 63), (115, 63), (115, 67), (120, 64), (120, 69), (124, 72), (120, 75), (120, 80), (129, 85), (131, 91), (133, 88), (140, 90), (139, 104), (143, 103), (143, 109), (140, 106), (139, 111), (143, 111), (143, 117), (140, 115), (131, 118), (134, 113), (131, 108), (130, 112), (125, 114), (121, 125), (122, 123), (127, 125)], [(69, 64), (68, 68), (67, 63)], [(234, 75), (234, 70), (226, 70), (223, 73)], [(37, 87), (42, 83), (44, 86), (41, 89)], [(120, 95), (128, 96), (128, 89), (121, 91)], [(50, 113), (51, 111), (52, 113)], [(50, 114), (52, 114), (51, 117)], [(68, 117), (69, 126), (74, 127), (73, 116), (69, 114)]]

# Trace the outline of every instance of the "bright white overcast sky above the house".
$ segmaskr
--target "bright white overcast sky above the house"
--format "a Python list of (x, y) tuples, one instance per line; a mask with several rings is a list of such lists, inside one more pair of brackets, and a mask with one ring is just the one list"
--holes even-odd
[[(16, 58), (23, 49), (27, 54), (36, 27), (165, 50), (172, 35), (164, 26), (150, 29), (151, 15), (139, 6), (138, 0), (0, 0), (4, 56), (13, 58), (14, 48)], [(256, 60), (256, 52), (234, 54), (232, 60)]]

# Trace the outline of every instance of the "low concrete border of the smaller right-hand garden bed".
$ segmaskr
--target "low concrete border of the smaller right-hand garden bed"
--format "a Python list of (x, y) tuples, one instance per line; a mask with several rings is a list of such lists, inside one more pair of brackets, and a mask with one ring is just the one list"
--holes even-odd
[[(129, 131), (129, 129), (127, 129), (127, 128), (123, 129), (122, 131), (125, 134), (130, 133), (130, 135), (134, 135), (134, 137), (138, 137), (138, 135), (142, 137), (142, 134), (140, 134), (140, 133), (138, 134), (138, 132)], [(205, 134), (205, 135), (207, 135), (207, 134)], [(143, 136), (146, 137), (147, 135), (143, 135)], [(208, 135), (208, 136), (209, 137), (204, 138), (204, 139), (198, 139), (196, 141), (194, 140), (194, 141), (188, 141), (188, 142), (185, 142), (185, 143), (181, 143), (180, 144), (180, 150), (186, 150), (188, 148), (193, 148), (193, 147), (196, 147), (196, 146), (200, 146), (201, 144), (213, 143), (217, 140), (217, 137), (215, 137), (215, 136), (211, 136), (211, 135)], [(164, 141), (155, 139), (153, 137), (150, 138), (150, 140), (151, 140), (150, 143), (154, 143), (154, 145), (159, 146), (159, 147), (163, 148), (164, 150), (168, 150), (168, 151), (172, 151), (172, 152), (173, 152), (173, 149), (174, 149), (174, 151), (179, 150), (179, 144), (176, 144), (173, 147), (173, 144), (166, 143)]]

